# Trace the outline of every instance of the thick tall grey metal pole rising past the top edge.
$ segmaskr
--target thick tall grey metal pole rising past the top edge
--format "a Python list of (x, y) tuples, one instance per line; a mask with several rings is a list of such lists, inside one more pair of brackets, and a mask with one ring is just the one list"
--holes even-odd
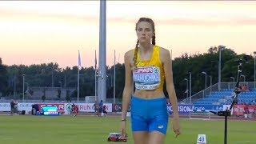
[(100, 0), (98, 98), (106, 102), (106, 0)]

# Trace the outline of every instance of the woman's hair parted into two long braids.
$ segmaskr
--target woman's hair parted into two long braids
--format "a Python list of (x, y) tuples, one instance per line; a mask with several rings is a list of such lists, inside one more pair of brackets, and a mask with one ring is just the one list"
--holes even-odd
[[(151, 24), (151, 26), (152, 26), (153, 32), (155, 31), (155, 29), (154, 29), (154, 21), (151, 18), (139, 18), (138, 22), (136, 23), (135, 30), (137, 30), (139, 22), (149, 22)], [(136, 43), (136, 46), (135, 46), (135, 50), (134, 50), (134, 58), (133, 58), (134, 64), (132, 66), (133, 69), (135, 69), (137, 67), (137, 64), (138, 64), (138, 62), (137, 62), (138, 44), (139, 43), (138, 43), (138, 40), (137, 40), (137, 43)], [(155, 34), (152, 37), (152, 45), (155, 45)]]

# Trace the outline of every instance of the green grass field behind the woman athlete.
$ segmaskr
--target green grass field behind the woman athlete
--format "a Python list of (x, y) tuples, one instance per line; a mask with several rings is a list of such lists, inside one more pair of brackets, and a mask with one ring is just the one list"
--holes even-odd
[[(1, 144), (111, 144), (110, 132), (118, 132), (119, 117), (94, 116), (0, 116)], [(182, 135), (174, 138), (171, 125), (166, 142), (195, 144), (198, 134), (206, 134), (207, 144), (223, 144), (224, 120), (181, 119)], [(171, 124), (171, 119), (170, 119)], [(133, 143), (130, 121), (127, 122), (128, 142)], [(256, 122), (228, 121), (227, 143), (256, 143)], [(118, 142), (119, 143), (119, 142)], [(124, 142), (125, 143), (125, 142)]]

